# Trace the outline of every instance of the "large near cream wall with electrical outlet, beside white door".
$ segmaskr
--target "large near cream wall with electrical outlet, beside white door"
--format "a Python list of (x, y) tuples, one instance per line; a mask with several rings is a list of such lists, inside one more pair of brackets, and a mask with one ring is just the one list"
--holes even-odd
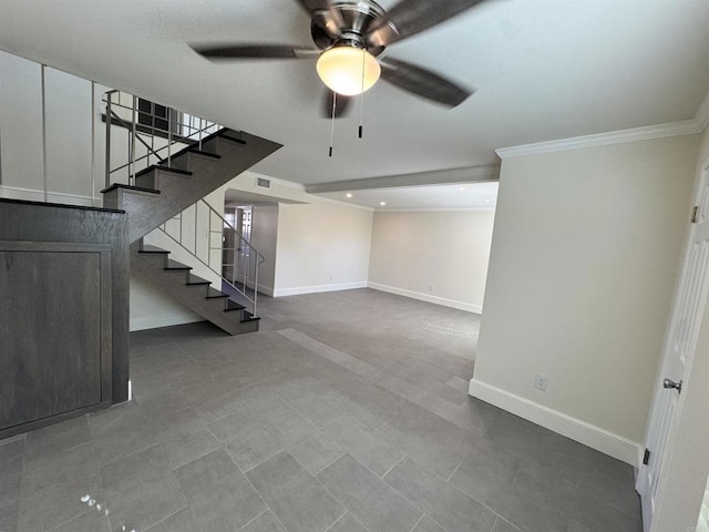
[(698, 140), (503, 161), (471, 395), (637, 464)]

